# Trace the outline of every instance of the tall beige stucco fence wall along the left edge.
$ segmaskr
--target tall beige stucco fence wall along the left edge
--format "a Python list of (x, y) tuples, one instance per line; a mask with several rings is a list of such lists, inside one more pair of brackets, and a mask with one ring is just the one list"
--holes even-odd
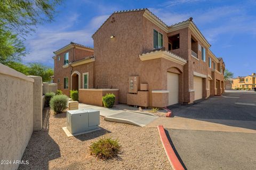
[[(21, 160), (33, 131), (42, 129), (42, 78), (0, 63), (0, 160)], [(17, 169), (19, 164), (0, 164)]]

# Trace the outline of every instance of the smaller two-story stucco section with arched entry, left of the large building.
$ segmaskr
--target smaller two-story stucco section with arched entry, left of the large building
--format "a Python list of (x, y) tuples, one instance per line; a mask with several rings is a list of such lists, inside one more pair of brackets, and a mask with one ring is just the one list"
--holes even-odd
[[(78, 90), (88, 87), (88, 74), (93, 75), (93, 48), (70, 42), (67, 46), (53, 52), (54, 57), (54, 83), (58, 89), (69, 96), (70, 89)], [(84, 65), (85, 63), (88, 63)], [(86, 78), (87, 76), (87, 78)], [(85, 81), (81, 81), (85, 77)], [(72, 83), (71, 83), (72, 82)], [(86, 84), (87, 83), (87, 84)]]

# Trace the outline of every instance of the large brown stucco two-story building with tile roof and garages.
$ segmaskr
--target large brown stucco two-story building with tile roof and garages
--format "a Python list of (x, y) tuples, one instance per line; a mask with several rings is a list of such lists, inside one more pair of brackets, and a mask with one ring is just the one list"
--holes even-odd
[[(77, 61), (79, 68), (75, 62), (69, 63), (69, 69), (62, 68), (63, 62), (54, 64), (54, 82), (87, 72), (89, 88), (119, 89), (119, 103), (131, 104), (137, 98), (154, 107), (221, 95), (225, 63), (211, 52), (211, 45), (192, 20), (167, 26), (147, 9), (114, 12), (92, 36), (93, 60)], [(63, 53), (55, 52), (54, 63)], [(147, 83), (148, 91), (135, 92), (131, 97), (131, 76)], [(82, 82), (84, 78), (71, 81)], [(63, 80), (61, 90), (62, 84)]]

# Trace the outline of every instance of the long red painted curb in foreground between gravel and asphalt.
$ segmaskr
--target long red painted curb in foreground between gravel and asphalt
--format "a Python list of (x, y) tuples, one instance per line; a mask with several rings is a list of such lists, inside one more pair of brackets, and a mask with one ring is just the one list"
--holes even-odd
[(167, 139), (166, 133), (164, 131), (164, 126), (163, 125), (158, 125), (157, 126), (165, 153), (169, 159), (169, 162), (172, 165), (172, 168), (174, 170), (185, 170), (184, 167), (181, 165), (179, 159), (177, 158), (175, 152), (172, 149), (172, 146), (170, 145), (169, 140)]

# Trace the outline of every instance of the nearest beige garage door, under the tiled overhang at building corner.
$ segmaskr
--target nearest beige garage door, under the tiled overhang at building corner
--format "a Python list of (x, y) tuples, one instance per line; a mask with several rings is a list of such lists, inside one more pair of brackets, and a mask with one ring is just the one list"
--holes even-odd
[(169, 105), (179, 103), (179, 74), (167, 72), (167, 90), (169, 90)]

